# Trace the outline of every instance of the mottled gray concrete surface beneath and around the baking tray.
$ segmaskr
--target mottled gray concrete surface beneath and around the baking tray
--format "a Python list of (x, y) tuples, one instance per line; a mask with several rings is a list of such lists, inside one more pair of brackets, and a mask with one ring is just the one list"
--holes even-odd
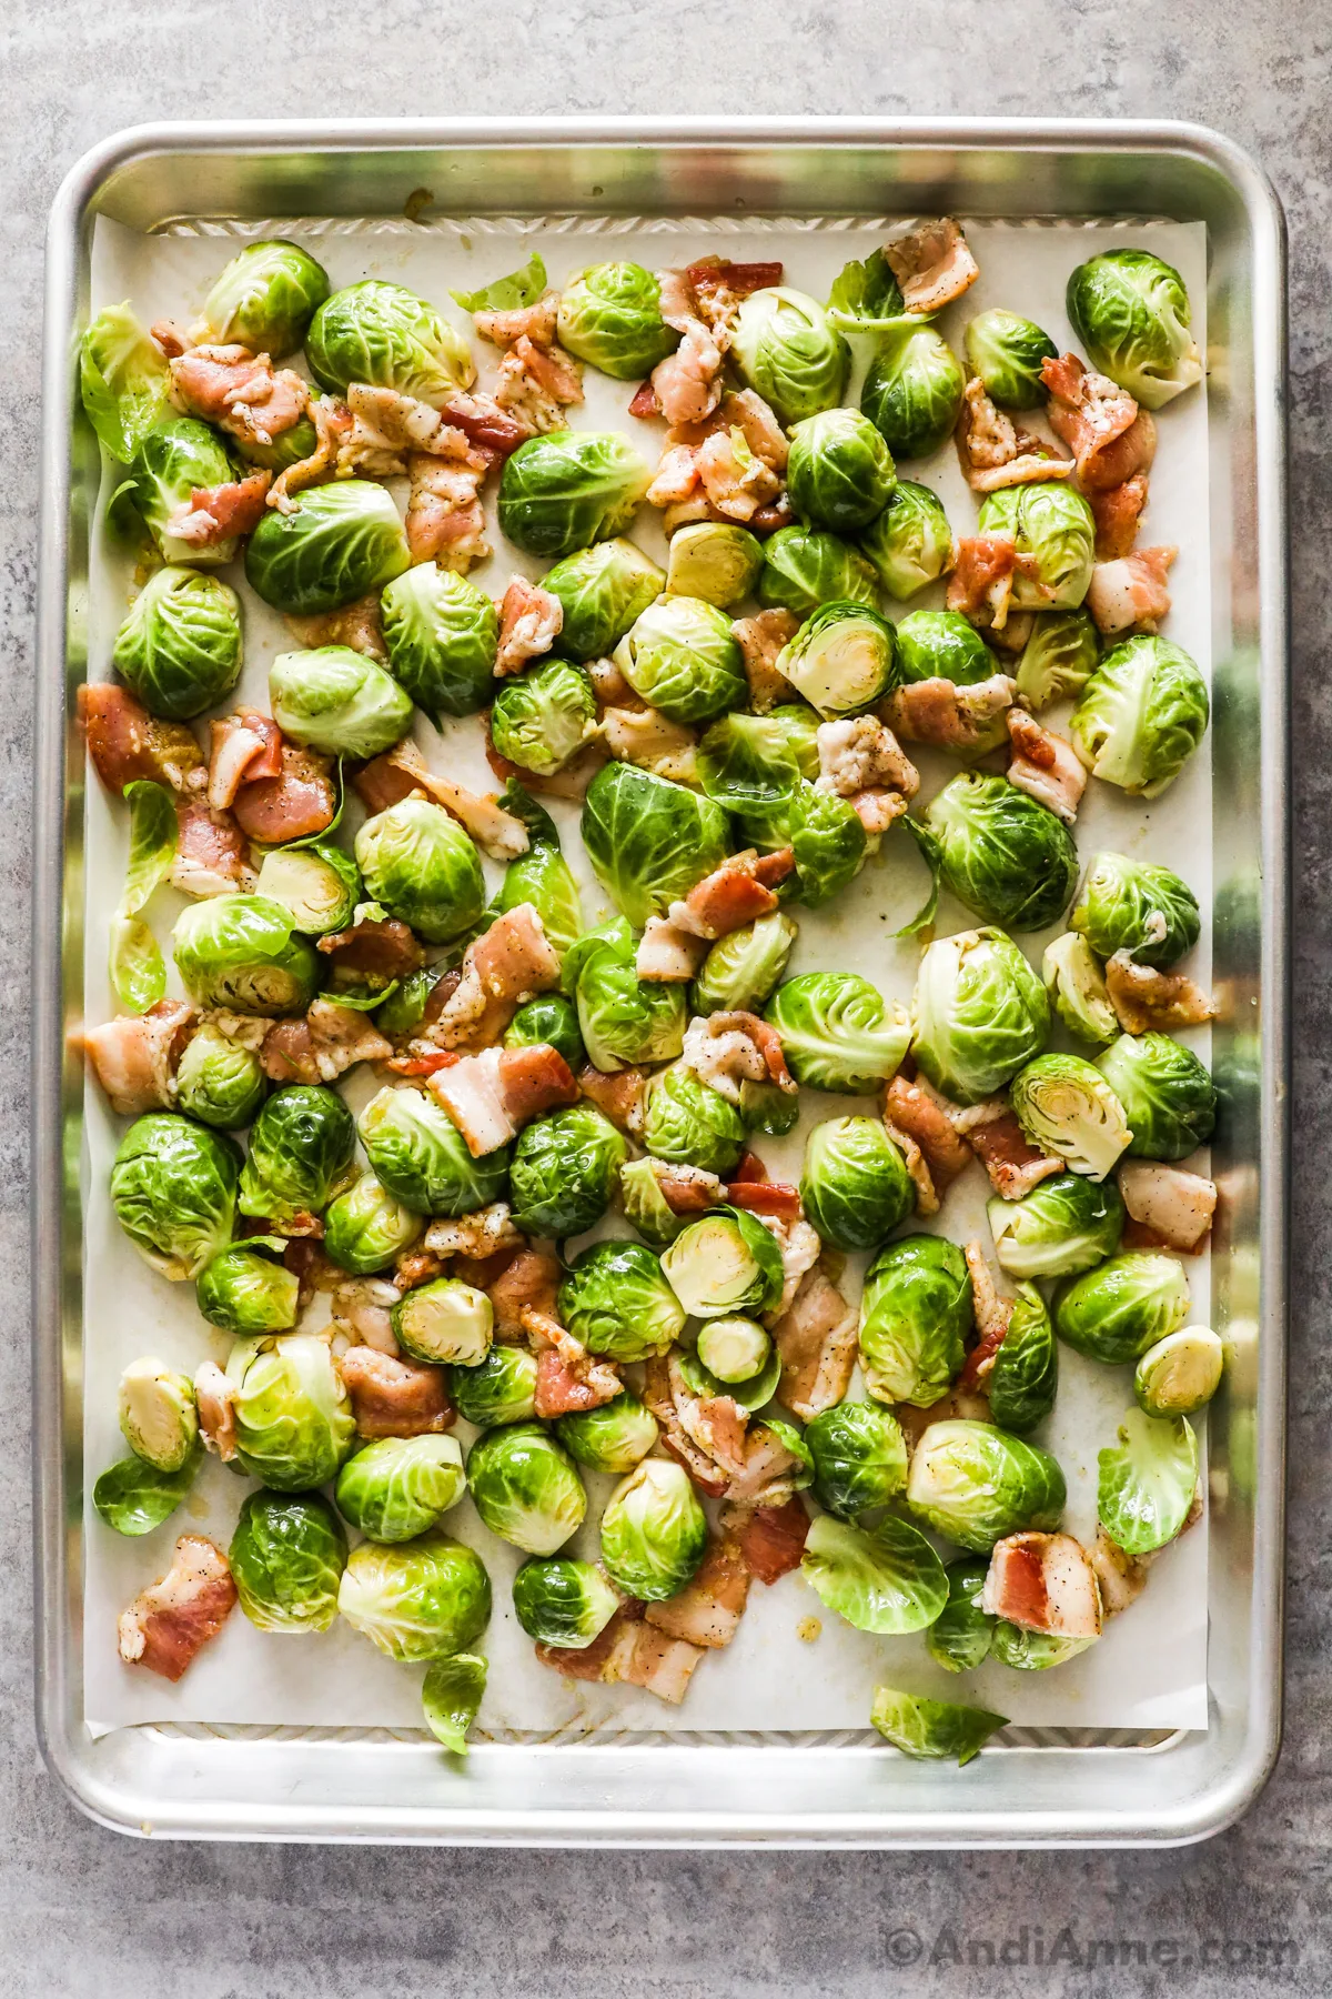
[[(0, 1999), (1322, 1995), (1332, 1987), (1332, 6), (1328, 0), (10, 0), (0, 8)], [(24, 1231), (28, 706), (42, 232), (66, 166), (164, 116), (1062, 112), (1214, 124), (1292, 238), (1296, 1325), (1286, 1751), (1180, 1853), (713, 1855), (150, 1847), (58, 1793), (30, 1693)], [(1020, 1927), (1030, 1925), (1026, 1963)], [(1042, 1929), (1038, 1963), (1034, 1925)], [(1068, 1925), (1064, 1935), (1064, 1925)], [(967, 1965), (967, 1939), (1002, 1963)], [(1120, 1965), (1090, 1961), (1120, 1939)], [(1012, 1939), (1006, 1953), (999, 1947)], [(1146, 1947), (1140, 1965), (1136, 1945)], [(1154, 1947), (1154, 1955), (1152, 1955)], [(987, 1963), (985, 1949), (975, 1953)]]

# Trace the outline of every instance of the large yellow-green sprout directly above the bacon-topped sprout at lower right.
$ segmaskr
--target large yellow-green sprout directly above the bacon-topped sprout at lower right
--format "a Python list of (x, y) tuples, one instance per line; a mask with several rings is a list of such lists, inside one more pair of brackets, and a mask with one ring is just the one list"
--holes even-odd
[(1048, 1451), (995, 1423), (931, 1423), (911, 1453), (907, 1505), (977, 1555), (1008, 1533), (1054, 1531), (1064, 1497), (1064, 1473)]

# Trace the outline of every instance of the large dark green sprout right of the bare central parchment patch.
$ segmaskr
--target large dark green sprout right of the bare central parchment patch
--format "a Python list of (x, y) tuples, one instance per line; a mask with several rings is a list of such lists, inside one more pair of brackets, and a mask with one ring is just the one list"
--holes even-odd
[(987, 924), (1044, 930), (1068, 908), (1078, 850), (1068, 828), (1006, 778), (965, 770), (931, 800), (943, 884)]

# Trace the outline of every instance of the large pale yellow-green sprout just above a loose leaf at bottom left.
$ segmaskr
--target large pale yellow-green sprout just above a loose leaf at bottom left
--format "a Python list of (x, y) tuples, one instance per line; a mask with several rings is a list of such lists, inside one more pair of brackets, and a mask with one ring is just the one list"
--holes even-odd
[(361, 1541), (341, 1571), (337, 1609), (389, 1659), (447, 1659), (489, 1623), (489, 1575), (479, 1555), (445, 1533), (397, 1547)]

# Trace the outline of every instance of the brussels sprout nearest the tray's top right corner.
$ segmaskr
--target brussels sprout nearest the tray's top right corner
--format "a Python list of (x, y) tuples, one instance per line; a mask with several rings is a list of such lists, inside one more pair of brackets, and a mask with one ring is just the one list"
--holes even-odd
[(1064, 304), (1092, 368), (1144, 410), (1160, 410), (1202, 380), (1184, 280), (1150, 250), (1102, 250), (1078, 264)]

